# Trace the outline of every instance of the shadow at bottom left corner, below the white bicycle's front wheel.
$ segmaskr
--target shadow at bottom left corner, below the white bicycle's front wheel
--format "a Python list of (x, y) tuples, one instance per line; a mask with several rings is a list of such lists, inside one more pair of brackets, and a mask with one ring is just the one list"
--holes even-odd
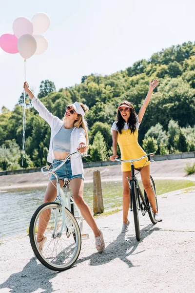
[(0, 284), (0, 289), (9, 288), (11, 293), (32, 293), (38, 289), (44, 290), (44, 293), (52, 293), (58, 291), (52, 289), (50, 281), (57, 273), (38, 264), (37, 258), (34, 256), (21, 272), (13, 273), (4, 283)]

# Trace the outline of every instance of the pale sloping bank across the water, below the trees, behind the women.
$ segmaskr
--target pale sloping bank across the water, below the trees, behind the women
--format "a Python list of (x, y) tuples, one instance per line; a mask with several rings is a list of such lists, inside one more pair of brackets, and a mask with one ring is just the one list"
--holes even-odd
[[(184, 167), (187, 163), (195, 163), (195, 158), (156, 161), (151, 164), (151, 175), (154, 179), (188, 179), (195, 181), (195, 174), (186, 176)], [(93, 182), (93, 171), (99, 170), (101, 181), (121, 181), (122, 173), (120, 165), (91, 167), (84, 169), (85, 182)], [(46, 187), (48, 183), (47, 175), (41, 172), (3, 175), (0, 176), (0, 191), (16, 188), (39, 188)]]

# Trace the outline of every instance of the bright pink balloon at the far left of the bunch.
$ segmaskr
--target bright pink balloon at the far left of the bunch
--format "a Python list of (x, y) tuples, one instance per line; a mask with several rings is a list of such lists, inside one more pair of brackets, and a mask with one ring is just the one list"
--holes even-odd
[(18, 39), (15, 35), (4, 34), (0, 37), (0, 47), (3, 51), (15, 54), (18, 53), (17, 47)]

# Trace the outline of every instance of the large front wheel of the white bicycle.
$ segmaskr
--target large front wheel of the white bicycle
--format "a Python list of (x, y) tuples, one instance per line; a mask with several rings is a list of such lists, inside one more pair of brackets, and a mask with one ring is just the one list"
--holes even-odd
[[(59, 204), (45, 203), (35, 211), (29, 227), (30, 243), (35, 255), (45, 267), (53, 271), (64, 271), (73, 266), (81, 248), (81, 235), (75, 217), (65, 208), (65, 224), (61, 229), (62, 214)], [(39, 221), (47, 237), (42, 251), (36, 241)]]

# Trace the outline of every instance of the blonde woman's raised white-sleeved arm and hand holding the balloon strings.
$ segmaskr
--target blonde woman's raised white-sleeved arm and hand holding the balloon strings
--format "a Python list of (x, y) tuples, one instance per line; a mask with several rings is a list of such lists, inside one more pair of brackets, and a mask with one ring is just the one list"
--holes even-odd
[(32, 105), (38, 111), (39, 116), (42, 117), (50, 127), (54, 127), (56, 122), (59, 122), (60, 119), (50, 113), (47, 108), (39, 101), (39, 99), (34, 96), (32, 91), (29, 89), (29, 84), (27, 82), (24, 83), (23, 88), (32, 100)]

